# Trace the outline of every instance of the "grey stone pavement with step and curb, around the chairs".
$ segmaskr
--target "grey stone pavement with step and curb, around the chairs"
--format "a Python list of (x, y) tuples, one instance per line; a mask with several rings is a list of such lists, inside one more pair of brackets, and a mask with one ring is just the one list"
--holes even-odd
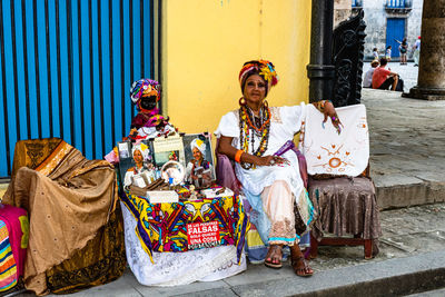
[(279, 270), (249, 265), (224, 280), (166, 288), (139, 285), (127, 270), (70, 296), (403, 296), (445, 287), (445, 101), (367, 89), (363, 102), (372, 177), (386, 209), (375, 259), (365, 260), (360, 247), (320, 247), (310, 278), (296, 277), (288, 263)]

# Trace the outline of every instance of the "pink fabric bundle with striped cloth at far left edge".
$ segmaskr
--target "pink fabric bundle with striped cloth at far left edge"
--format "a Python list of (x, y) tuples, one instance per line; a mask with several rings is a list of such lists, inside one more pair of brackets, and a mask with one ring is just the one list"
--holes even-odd
[(0, 291), (14, 287), (23, 275), (29, 221), (24, 209), (0, 205)]

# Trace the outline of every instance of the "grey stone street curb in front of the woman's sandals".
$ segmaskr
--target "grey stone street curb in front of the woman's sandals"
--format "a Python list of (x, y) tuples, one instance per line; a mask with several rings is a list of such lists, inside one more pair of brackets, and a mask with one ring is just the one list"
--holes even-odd
[(445, 250), (291, 277), (204, 290), (192, 296), (399, 296), (445, 287)]

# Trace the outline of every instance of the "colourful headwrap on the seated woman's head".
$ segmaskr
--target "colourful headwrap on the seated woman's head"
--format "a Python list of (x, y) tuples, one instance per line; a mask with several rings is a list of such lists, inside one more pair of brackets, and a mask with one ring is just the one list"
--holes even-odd
[(251, 75), (259, 75), (266, 82), (266, 93), (278, 82), (278, 75), (275, 71), (274, 65), (267, 60), (254, 60), (245, 62), (241, 71), (239, 71), (239, 83), (241, 85), (241, 91), (244, 92), (244, 87), (246, 80)]

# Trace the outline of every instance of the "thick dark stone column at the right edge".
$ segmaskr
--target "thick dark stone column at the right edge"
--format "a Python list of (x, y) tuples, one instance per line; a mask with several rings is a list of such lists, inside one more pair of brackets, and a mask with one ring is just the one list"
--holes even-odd
[(404, 97), (445, 100), (445, 0), (425, 0), (417, 86)]

